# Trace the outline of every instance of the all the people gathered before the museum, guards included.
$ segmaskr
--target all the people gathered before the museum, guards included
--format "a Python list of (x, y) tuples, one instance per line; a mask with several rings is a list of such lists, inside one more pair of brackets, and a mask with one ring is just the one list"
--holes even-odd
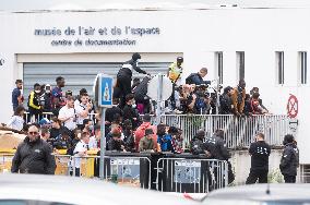
[[(147, 74), (139, 68), (141, 56), (134, 53), (132, 59), (127, 61), (117, 74), (117, 81), (114, 86), (114, 98), (111, 108), (106, 110), (105, 122), (102, 123), (100, 113), (97, 111), (96, 104), (91, 99), (87, 91), (82, 88), (76, 97), (72, 92), (62, 92), (65, 82), (64, 77), (56, 79), (57, 86), (51, 87), (49, 84), (39, 85), (36, 83), (34, 89), (28, 96), (26, 110), (23, 107), (24, 97), (22, 95), (21, 80), (16, 81), (16, 88), (12, 92), (12, 105), (14, 116), (7, 124), (12, 130), (24, 131), (27, 137), (23, 145), (20, 145), (13, 160), (12, 171), (16, 172), (41, 172), (51, 173), (55, 161), (49, 158), (48, 168), (43, 170), (32, 169), (21, 161), (23, 152), (33, 149), (35, 144), (44, 147), (44, 152), (57, 153), (59, 149), (65, 149), (68, 155), (83, 157), (87, 150), (100, 150), (100, 125), (105, 125), (104, 137), (105, 147), (110, 152), (170, 152), (175, 154), (191, 153), (193, 155), (204, 155), (210, 159), (226, 160), (229, 165), (229, 182), (234, 181), (234, 173), (228, 161), (230, 155), (224, 141), (224, 131), (217, 130), (210, 138), (205, 138), (206, 131), (200, 130), (192, 137), (189, 147), (184, 147), (182, 130), (176, 126), (159, 123), (152, 124), (151, 113), (152, 99), (146, 95), (145, 87), (150, 76), (140, 80), (134, 79), (132, 82), (132, 71)], [(192, 73), (186, 79), (186, 85), (181, 85), (183, 58), (178, 57), (177, 61), (171, 63), (168, 69), (168, 77), (172, 83), (171, 97), (166, 101), (167, 110), (174, 113), (203, 113), (215, 114), (218, 109), (220, 114), (235, 114), (237, 117), (264, 114), (269, 110), (263, 106), (260, 99), (259, 88), (253, 87), (250, 94), (246, 92), (246, 82), (240, 80), (236, 87), (227, 86), (222, 93), (222, 87), (213, 88), (210, 92), (211, 82), (203, 79), (207, 75), (207, 69), (202, 68), (198, 73)], [(147, 74), (148, 75), (148, 74)], [(222, 93), (219, 95), (219, 93)], [(219, 99), (217, 99), (219, 97)], [(218, 104), (219, 102), (219, 104)], [(24, 120), (24, 113), (28, 111), (29, 116), (38, 119), (38, 124), (29, 124)], [(52, 112), (50, 118), (41, 118), (43, 112)], [(90, 119), (90, 113), (94, 113), (94, 119)], [(31, 119), (31, 118), (28, 118)], [(94, 123), (96, 121), (96, 123)], [(286, 136), (287, 137), (287, 136)], [(260, 142), (264, 141), (263, 134), (257, 136), (257, 144), (251, 145), (250, 155), (253, 165), (260, 164), (259, 171), (251, 169), (247, 183), (252, 183), (258, 178), (260, 182), (266, 181), (265, 162), (270, 155), (270, 147)], [(286, 138), (286, 146), (290, 146), (291, 137)], [(258, 145), (259, 144), (259, 145)], [(48, 145), (48, 146), (47, 146)], [(296, 153), (296, 147), (286, 148), (284, 153)], [(262, 157), (262, 155), (264, 155)], [(46, 156), (46, 155), (44, 155)], [(253, 157), (259, 159), (253, 159)], [(289, 162), (287, 155), (284, 154), (282, 160), (282, 170), (284, 174)], [(296, 155), (294, 155), (296, 156)], [(253, 160), (259, 162), (253, 162)], [(296, 159), (297, 160), (297, 159)], [(294, 162), (294, 166), (296, 161)], [(297, 162), (298, 164), (298, 162)], [(39, 164), (38, 164), (39, 165)], [(79, 166), (79, 165), (78, 165)], [(79, 169), (76, 172), (79, 173)], [(294, 181), (291, 173), (286, 179)], [(295, 172), (294, 172), (295, 174)], [(262, 179), (261, 179), (262, 178)]]

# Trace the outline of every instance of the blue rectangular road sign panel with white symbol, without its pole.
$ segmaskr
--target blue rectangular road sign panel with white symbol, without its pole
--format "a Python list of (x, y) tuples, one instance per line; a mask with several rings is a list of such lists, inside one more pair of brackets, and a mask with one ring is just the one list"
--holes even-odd
[(109, 75), (99, 75), (99, 88), (98, 88), (98, 105), (100, 107), (112, 106), (112, 86), (114, 79)]

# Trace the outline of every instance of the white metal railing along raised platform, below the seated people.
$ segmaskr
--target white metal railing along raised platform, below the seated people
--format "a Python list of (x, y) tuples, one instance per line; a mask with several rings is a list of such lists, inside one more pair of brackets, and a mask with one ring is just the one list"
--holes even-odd
[[(51, 116), (51, 112), (46, 112), (33, 120), (37, 122), (38, 119), (50, 119)], [(25, 114), (25, 119), (29, 119), (28, 113)], [(95, 113), (91, 113), (90, 119), (96, 123)], [(189, 147), (190, 141), (199, 129), (205, 130), (208, 137), (215, 130), (224, 130), (227, 147), (233, 149), (249, 147), (258, 132), (265, 134), (270, 145), (282, 146), (283, 136), (289, 133), (289, 120), (284, 114), (243, 118), (233, 114), (165, 114), (162, 116), (160, 121), (183, 131), (183, 148)]]

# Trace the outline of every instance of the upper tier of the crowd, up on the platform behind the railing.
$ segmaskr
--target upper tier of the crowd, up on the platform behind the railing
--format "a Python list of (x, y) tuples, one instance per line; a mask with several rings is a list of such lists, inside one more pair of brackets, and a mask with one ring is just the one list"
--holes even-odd
[[(133, 53), (132, 59), (124, 62), (119, 70), (114, 85), (114, 101), (115, 105), (118, 105), (123, 110), (128, 105), (127, 100), (131, 98), (130, 104), (135, 108), (136, 114), (155, 113), (156, 101), (147, 96), (147, 83), (151, 80), (151, 75), (139, 67), (140, 59), (141, 56), (139, 53)], [(182, 64), (183, 58), (178, 57), (177, 61), (168, 68), (167, 77), (171, 81), (174, 89), (170, 98), (165, 102), (166, 113), (219, 113), (239, 117), (265, 114), (269, 112), (262, 104), (258, 87), (253, 87), (247, 94), (243, 80), (240, 80), (236, 87), (227, 86), (223, 89), (222, 85), (218, 84), (214, 87), (211, 81), (204, 81), (207, 76), (206, 68), (202, 68), (198, 73), (192, 73), (184, 79), (182, 76)], [(140, 79), (132, 80), (133, 70), (146, 74), (146, 76), (142, 81)], [(183, 79), (186, 84), (181, 83)], [(14, 116), (20, 116), (16, 112), (16, 108), (24, 105), (24, 96), (22, 95), (23, 82), (22, 80), (16, 80), (15, 84), (16, 87), (12, 92), (12, 106), (15, 112)], [(85, 88), (82, 88), (75, 97), (71, 91), (63, 93), (64, 86), (65, 82), (62, 76), (56, 79), (53, 88), (50, 84), (34, 84), (33, 91), (31, 91), (27, 97), (29, 116), (35, 116), (36, 119), (43, 112), (52, 112), (55, 116), (58, 116), (60, 109), (65, 106), (65, 99), (70, 96), (75, 100), (74, 109), (76, 114), (80, 116), (79, 124), (82, 124), (81, 119), (87, 112), (97, 112), (96, 104), (90, 98)], [(80, 113), (81, 109), (83, 109), (83, 113)]]

